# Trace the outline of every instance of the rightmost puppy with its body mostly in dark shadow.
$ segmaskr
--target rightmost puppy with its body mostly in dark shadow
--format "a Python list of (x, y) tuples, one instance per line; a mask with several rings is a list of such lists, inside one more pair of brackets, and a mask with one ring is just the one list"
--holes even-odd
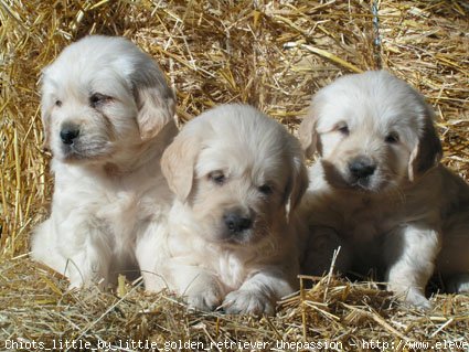
[(319, 153), (301, 205), (303, 271), (321, 275), (341, 246), (339, 270), (376, 269), (412, 305), (430, 306), (435, 269), (468, 290), (469, 189), (439, 164), (433, 118), (417, 92), (384, 71), (341, 77), (315, 95), (299, 129), (307, 153)]

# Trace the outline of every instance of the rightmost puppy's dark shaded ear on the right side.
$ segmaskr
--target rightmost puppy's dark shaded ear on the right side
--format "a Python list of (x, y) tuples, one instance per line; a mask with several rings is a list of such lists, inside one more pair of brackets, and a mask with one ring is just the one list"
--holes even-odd
[[(424, 103), (425, 104), (425, 103)], [(419, 131), (419, 138), (411, 153), (408, 162), (408, 179), (414, 181), (416, 177), (436, 167), (441, 159), (441, 141), (433, 124), (434, 113), (425, 106), (424, 126)]]

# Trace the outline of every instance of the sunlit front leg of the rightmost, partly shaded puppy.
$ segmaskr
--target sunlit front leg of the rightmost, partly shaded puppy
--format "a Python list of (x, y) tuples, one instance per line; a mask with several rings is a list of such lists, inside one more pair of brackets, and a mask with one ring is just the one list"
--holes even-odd
[(387, 259), (388, 289), (413, 306), (431, 308), (425, 287), (435, 268), (440, 235), (424, 224), (407, 224), (387, 235), (384, 250)]

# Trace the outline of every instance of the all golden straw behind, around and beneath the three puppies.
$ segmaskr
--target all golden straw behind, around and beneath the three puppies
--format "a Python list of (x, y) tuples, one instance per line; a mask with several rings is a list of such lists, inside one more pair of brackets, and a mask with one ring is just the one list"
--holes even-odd
[[(266, 350), (281, 340), (322, 341), (351, 351), (383, 346), (363, 341), (394, 343), (388, 350), (397, 351), (427, 350), (404, 342), (469, 342), (463, 296), (437, 295), (435, 309), (423, 313), (398, 307), (375, 284), (326, 277), (286, 299), (276, 318), (195, 314), (170, 295), (145, 294), (138, 282), (118, 292), (66, 291), (66, 280), (25, 255), (52, 193), (50, 156), (41, 148), (40, 70), (88, 33), (125, 35), (151, 53), (178, 92), (181, 122), (216, 104), (246, 102), (294, 131), (313, 92), (344, 73), (377, 68), (381, 61), (434, 105), (444, 162), (469, 179), (467, 2), (376, 2), (381, 46), (374, 45), (370, 1), (1, 0), (1, 340), (50, 346), (55, 341), (58, 350), (66, 350), (60, 340), (74, 339), (95, 345), (121, 341), (120, 350), (137, 350), (126, 341), (160, 348), (169, 341), (205, 348), (251, 341), (269, 343)], [(23, 346), (17, 350), (32, 350)]]

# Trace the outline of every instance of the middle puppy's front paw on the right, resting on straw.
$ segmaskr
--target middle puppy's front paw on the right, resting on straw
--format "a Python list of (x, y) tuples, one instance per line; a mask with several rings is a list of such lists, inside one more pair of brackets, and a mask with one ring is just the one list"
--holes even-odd
[(230, 292), (222, 307), (228, 314), (274, 316), (275, 302), (262, 292), (237, 290)]

